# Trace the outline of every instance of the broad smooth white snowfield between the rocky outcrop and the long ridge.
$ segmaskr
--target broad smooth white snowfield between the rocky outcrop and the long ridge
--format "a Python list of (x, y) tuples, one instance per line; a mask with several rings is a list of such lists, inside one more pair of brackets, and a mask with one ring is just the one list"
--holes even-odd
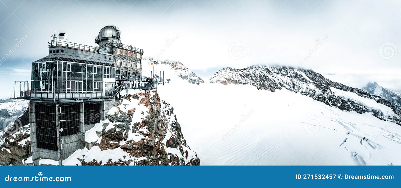
[[(167, 65), (155, 69), (170, 79), (158, 93), (202, 165), (401, 165), (401, 126), (372, 113), (341, 111), (284, 88), (194, 85)], [(394, 115), (375, 100), (332, 91)]]

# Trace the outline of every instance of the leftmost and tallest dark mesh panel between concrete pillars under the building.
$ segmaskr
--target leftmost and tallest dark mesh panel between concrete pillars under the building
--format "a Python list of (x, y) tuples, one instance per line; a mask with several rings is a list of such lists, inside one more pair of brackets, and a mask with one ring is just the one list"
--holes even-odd
[(56, 105), (35, 105), (36, 143), (38, 148), (57, 151)]

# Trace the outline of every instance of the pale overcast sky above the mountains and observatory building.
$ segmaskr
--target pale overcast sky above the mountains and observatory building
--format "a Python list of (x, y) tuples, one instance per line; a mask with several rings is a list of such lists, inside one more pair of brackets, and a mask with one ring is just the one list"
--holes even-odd
[(181, 61), (206, 80), (223, 67), (289, 65), (401, 90), (399, 10), (399, 1), (367, 0), (1, 0), (0, 96), (30, 80), (53, 30), (95, 46), (106, 25), (144, 56)]

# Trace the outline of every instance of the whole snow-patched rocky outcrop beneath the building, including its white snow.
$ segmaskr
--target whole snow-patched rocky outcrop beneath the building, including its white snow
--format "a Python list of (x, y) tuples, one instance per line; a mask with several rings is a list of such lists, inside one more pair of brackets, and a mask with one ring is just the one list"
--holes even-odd
[(173, 110), (155, 91), (130, 90), (63, 165), (199, 165)]

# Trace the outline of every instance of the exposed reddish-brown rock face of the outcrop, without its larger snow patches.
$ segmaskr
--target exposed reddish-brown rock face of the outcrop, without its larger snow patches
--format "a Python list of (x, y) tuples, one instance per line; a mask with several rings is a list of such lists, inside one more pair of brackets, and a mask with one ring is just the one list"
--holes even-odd
[[(121, 148), (127, 153), (124, 157), (127, 160), (112, 161), (109, 159), (107, 162), (100, 162), (83, 159), (81, 161), (82, 165), (129, 165), (132, 162), (136, 165), (200, 164), (196, 153), (186, 145), (186, 141), (181, 133), (180, 124), (177, 122), (174, 113), (172, 113), (172, 107), (165, 101), (161, 101), (156, 92), (150, 91), (138, 93), (138, 95), (122, 96), (122, 100), (124, 99), (128, 101), (132, 101), (133, 99), (139, 100), (139, 105), (146, 107), (147, 111), (138, 111), (138, 108), (133, 108), (124, 112), (124, 110), (118, 107), (122, 104), (122, 101), (117, 101), (115, 106), (118, 112), (115, 112), (114, 115), (109, 115), (108, 119), (110, 122), (118, 124), (107, 131), (104, 129), (101, 133), (100, 144), (95, 145), (99, 146), (102, 150)], [(132, 123), (132, 119), (135, 116), (143, 118), (140, 122)], [(107, 125), (103, 127), (107, 127)], [(142, 139), (140, 141), (128, 140), (128, 132), (142, 136)], [(174, 148), (180, 154), (169, 153), (166, 151), (167, 148)], [(134, 161), (128, 159), (130, 157), (145, 157), (146, 159)]]

